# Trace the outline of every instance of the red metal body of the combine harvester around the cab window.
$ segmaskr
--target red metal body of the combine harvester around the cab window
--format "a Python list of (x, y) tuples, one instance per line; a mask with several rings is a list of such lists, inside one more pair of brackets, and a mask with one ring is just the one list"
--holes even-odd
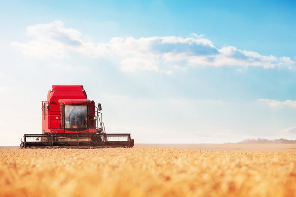
[[(80, 130), (63, 129), (64, 105), (87, 105), (88, 106), (88, 128)], [(87, 99), (82, 85), (53, 85), (48, 91), (47, 100), (42, 101), (42, 133), (46, 132), (98, 132), (96, 130), (95, 102)], [(75, 131), (74, 131), (75, 130)]]

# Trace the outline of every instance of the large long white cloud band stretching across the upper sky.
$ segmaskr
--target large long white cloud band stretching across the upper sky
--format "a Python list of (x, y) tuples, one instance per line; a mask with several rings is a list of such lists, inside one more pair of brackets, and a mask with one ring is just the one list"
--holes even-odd
[[(120, 70), (149, 70), (163, 73), (176, 64), (186, 66), (261, 66), (263, 68), (295, 66), (290, 57), (263, 56), (257, 52), (226, 46), (218, 49), (203, 34), (191, 37), (113, 37), (108, 43), (95, 43), (81, 38), (82, 33), (66, 28), (61, 21), (29, 26), (26, 35), (35, 39), (28, 43), (12, 42), (31, 57), (69, 57), (70, 52), (92, 58), (111, 58), (120, 62)], [(176, 67), (175, 67), (176, 68)], [(172, 71), (167, 71), (171, 73)]]

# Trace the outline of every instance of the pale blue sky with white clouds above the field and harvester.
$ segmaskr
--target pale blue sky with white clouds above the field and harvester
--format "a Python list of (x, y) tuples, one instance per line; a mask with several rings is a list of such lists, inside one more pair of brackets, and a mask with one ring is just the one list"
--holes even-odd
[(40, 100), (58, 84), (84, 85), (107, 132), (139, 143), (295, 139), (295, 10), (292, 0), (1, 1), (0, 145), (41, 132)]

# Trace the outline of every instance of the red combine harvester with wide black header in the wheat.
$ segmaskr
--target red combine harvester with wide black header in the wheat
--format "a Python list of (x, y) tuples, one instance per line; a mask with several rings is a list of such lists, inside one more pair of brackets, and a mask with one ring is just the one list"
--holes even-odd
[[(21, 148), (108, 148), (134, 146), (130, 133), (106, 133), (101, 103), (83, 86), (53, 85), (42, 102), (42, 134), (24, 134)], [(33, 141), (29, 141), (33, 139)]]

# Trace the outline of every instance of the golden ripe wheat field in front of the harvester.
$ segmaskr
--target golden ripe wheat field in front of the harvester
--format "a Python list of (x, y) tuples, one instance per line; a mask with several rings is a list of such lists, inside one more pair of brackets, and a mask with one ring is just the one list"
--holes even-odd
[(296, 151), (1, 149), (0, 197), (292, 197)]

